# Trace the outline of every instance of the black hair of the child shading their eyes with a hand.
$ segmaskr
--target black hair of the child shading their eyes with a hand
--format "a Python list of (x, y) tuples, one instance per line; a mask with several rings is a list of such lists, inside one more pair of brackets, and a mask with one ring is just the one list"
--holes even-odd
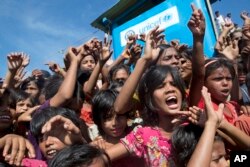
[[(65, 118), (70, 119), (81, 131), (86, 130), (82, 129), (82, 127), (84, 126), (83, 122), (73, 110), (60, 107), (48, 107), (36, 112), (33, 115), (32, 120), (30, 121), (30, 131), (35, 136), (37, 141), (39, 137), (42, 136), (41, 130), (43, 125), (45, 125), (45, 123), (52, 117), (57, 115), (61, 115)], [(84, 135), (83, 132), (82, 135)], [(83, 137), (86, 139), (86, 136)]]

